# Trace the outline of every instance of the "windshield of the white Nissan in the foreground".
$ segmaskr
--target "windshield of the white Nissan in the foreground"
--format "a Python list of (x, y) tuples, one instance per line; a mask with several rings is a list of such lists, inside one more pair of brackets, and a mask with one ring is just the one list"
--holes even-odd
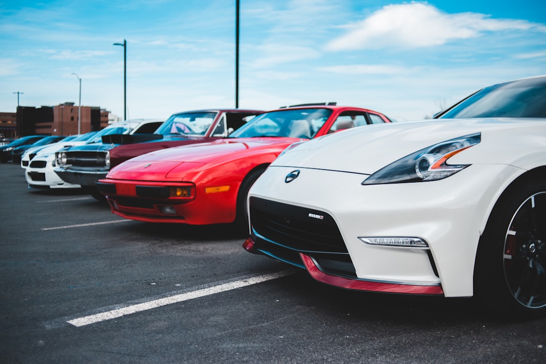
[(546, 117), (546, 77), (486, 87), (440, 118)]

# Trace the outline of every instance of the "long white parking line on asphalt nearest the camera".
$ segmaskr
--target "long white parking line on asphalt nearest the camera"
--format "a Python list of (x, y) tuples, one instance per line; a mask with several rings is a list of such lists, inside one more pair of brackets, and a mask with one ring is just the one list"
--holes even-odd
[(100, 321), (115, 319), (122, 317), (124, 315), (129, 315), (136, 312), (146, 311), (151, 308), (157, 308), (165, 305), (170, 305), (171, 303), (177, 303), (182, 301), (188, 301), (191, 299), (196, 299), (198, 297), (209, 296), (215, 293), (221, 293), (229, 291), (236, 288), (246, 287), (247, 285), (252, 285), (260, 282), (270, 281), (271, 279), (281, 278), (292, 274), (294, 271), (282, 271), (277, 273), (271, 273), (268, 275), (250, 277), (245, 279), (240, 279), (239, 281), (224, 283), (215, 285), (212, 287), (207, 287), (199, 289), (197, 291), (182, 293), (179, 295), (174, 295), (170, 297), (165, 297), (163, 299), (153, 300), (150, 302), (139, 303), (138, 305), (127, 306), (123, 308), (114, 309), (112, 311), (107, 311), (103, 313), (98, 313), (95, 315), (89, 315), (73, 320), (67, 321), (67, 323), (80, 327), (85, 325), (90, 325), (98, 323)]

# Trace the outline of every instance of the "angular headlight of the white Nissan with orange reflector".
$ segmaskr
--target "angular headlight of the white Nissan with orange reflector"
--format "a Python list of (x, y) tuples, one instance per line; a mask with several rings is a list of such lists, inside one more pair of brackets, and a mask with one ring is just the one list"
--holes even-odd
[(362, 184), (442, 180), (468, 166), (468, 164), (450, 165), (447, 164), (447, 160), (478, 144), (481, 140), (481, 133), (476, 133), (432, 145), (383, 167), (366, 178)]

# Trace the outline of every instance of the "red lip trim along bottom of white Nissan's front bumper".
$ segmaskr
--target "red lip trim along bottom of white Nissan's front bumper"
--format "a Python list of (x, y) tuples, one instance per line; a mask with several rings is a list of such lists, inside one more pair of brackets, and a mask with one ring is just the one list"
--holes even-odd
[(407, 293), (413, 295), (443, 295), (443, 290), (440, 285), (381, 283), (329, 275), (328, 273), (321, 271), (317, 265), (314, 264), (314, 261), (310, 256), (300, 253), (300, 257), (311, 277), (319, 282), (335, 285), (336, 287), (361, 291)]

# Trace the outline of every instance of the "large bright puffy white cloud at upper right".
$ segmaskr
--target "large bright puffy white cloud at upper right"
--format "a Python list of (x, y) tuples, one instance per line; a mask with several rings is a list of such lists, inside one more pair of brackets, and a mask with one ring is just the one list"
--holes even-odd
[(535, 29), (546, 26), (525, 20), (489, 19), (478, 13), (447, 14), (425, 2), (387, 5), (363, 21), (348, 26), (347, 34), (327, 44), (330, 51), (406, 49), (446, 44), (455, 39), (476, 38), (483, 32)]

